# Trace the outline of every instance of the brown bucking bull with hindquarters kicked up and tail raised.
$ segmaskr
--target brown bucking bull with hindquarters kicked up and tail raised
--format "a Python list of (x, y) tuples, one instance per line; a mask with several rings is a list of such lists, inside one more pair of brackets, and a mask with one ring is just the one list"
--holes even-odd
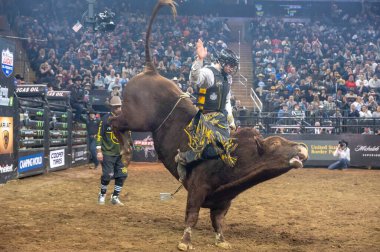
[[(146, 67), (143, 73), (132, 78), (123, 96), (122, 114), (114, 118), (112, 125), (121, 143), (127, 130), (151, 131), (159, 159), (169, 172), (178, 179), (174, 157), (177, 150), (188, 149), (185, 126), (197, 112), (190, 99), (183, 96), (170, 80), (159, 75), (151, 61), (149, 37), (153, 21), (159, 9), (169, 5), (175, 14), (172, 0), (160, 0), (156, 5), (146, 34)], [(263, 139), (254, 129), (242, 129), (232, 135), (238, 147), (233, 168), (221, 160), (203, 160), (189, 164), (184, 186), (188, 191), (186, 228), (180, 250), (192, 248), (191, 230), (196, 225), (201, 207), (210, 209), (212, 226), (216, 232), (216, 245), (229, 248), (224, 240), (222, 222), (231, 201), (244, 190), (265, 180), (277, 177), (292, 168), (302, 167), (307, 159), (304, 145), (272, 136)], [(128, 149), (126, 143), (126, 149)]]

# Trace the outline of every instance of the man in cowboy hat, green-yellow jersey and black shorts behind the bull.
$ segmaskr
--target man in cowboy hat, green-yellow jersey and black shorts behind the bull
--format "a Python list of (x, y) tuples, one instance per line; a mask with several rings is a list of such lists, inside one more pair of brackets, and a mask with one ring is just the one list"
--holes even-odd
[[(120, 199), (120, 191), (123, 188), (124, 181), (128, 176), (127, 165), (122, 162), (120, 154), (119, 141), (112, 131), (109, 119), (112, 116), (121, 114), (121, 99), (114, 96), (110, 100), (111, 112), (104, 115), (99, 124), (97, 137), (97, 158), (103, 162), (102, 176), (100, 178), (101, 188), (98, 196), (98, 203), (105, 204), (107, 186), (111, 179), (115, 179), (115, 190), (111, 195), (111, 203), (113, 205), (124, 205)], [(129, 135), (130, 138), (130, 135)], [(131, 142), (131, 141), (130, 141)], [(130, 150), (128, 150), (130, 151)], [(129, 163), (124, 162), (124, 163)]]

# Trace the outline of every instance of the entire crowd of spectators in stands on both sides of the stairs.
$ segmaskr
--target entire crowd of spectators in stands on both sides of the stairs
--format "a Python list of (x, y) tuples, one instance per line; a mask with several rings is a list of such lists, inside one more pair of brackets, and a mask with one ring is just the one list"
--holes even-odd
[[(84, 1), (85, 2), (85, 1)], [(86, 3), (50, 1), (15, 19), (38, 83), (70, 90), (72, 106), (86, 107), (90, 90), (121, 95), (130, 78), (143, 70), (149, 15), (112, 1), (118, 22), (113, 32), (73, 31), (78, 9)], [(253, 18), (250, 23), (255, 81), (266, 111), (300, 120), (315, 117), (380, 117), (380, 17), (369, 9), (357, 15), (332, 4), (330, 15), (310, 22)], [(223, 22), (223, 21), (224, 22)], [(159, 72), (183, 91), (198, 38), (225, 47), (229, 31), (216, 17), (158, 16), (152, 56)], [(46, 42), (40, 40), (46, 39)], [(87, 96), (86, 96), (87, 94)], [(297, 120), (298, 120), (297, 119)]]

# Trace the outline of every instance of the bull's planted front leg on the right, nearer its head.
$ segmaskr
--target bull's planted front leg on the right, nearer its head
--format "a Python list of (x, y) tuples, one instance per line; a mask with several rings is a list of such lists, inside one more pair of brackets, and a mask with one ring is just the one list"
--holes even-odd
[(226, 242), (223, 235), (223, 220), (224, 216), (227, 214), (228, 209), (231, 206), (231, 201), (227, 202), (225, 205), (211, 208), (210, 209), (210, 218), (212, 222), (212, 227), (215, 231), (215, 245), (219, 248), (230, 249), (231, 245)]

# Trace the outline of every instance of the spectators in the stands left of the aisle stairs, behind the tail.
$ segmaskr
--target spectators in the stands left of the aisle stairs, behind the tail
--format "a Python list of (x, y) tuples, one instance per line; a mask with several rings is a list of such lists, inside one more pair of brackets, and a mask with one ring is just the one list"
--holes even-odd
[[(47, 83), (51, 90), (71, 91), (71, 105), (79, 114), (89, 100), (86, 91), (106, 90), (110, 97), (121, 95), (129, 79), (143, 70), (150, 16), (133, 12), (123, 1), (112, 1), (118, 17), (113, 32), (94, 32), (92, 27), (75, 32), (70, 25), (75, 19), (70, 22), (69, 17), (77, 9), (86, 9), (86, 5), (73, 1), (63, 6), (57, 2), (51, 15), (49, 2), (37, 5), (37, 10), (18, 17), (15, 23), (18, 33), (30, 38), (25, 46), (36, 82)], [(157, 70), (183, 91), (192, 92), (188, 78), (195, 42), (202, 38), (217, 48), (226, 46), (224, 27), (223, 20), (213, 17), (158, 16), (151, 38)], [(44, 39), (46, 42), (41, 42)]]

